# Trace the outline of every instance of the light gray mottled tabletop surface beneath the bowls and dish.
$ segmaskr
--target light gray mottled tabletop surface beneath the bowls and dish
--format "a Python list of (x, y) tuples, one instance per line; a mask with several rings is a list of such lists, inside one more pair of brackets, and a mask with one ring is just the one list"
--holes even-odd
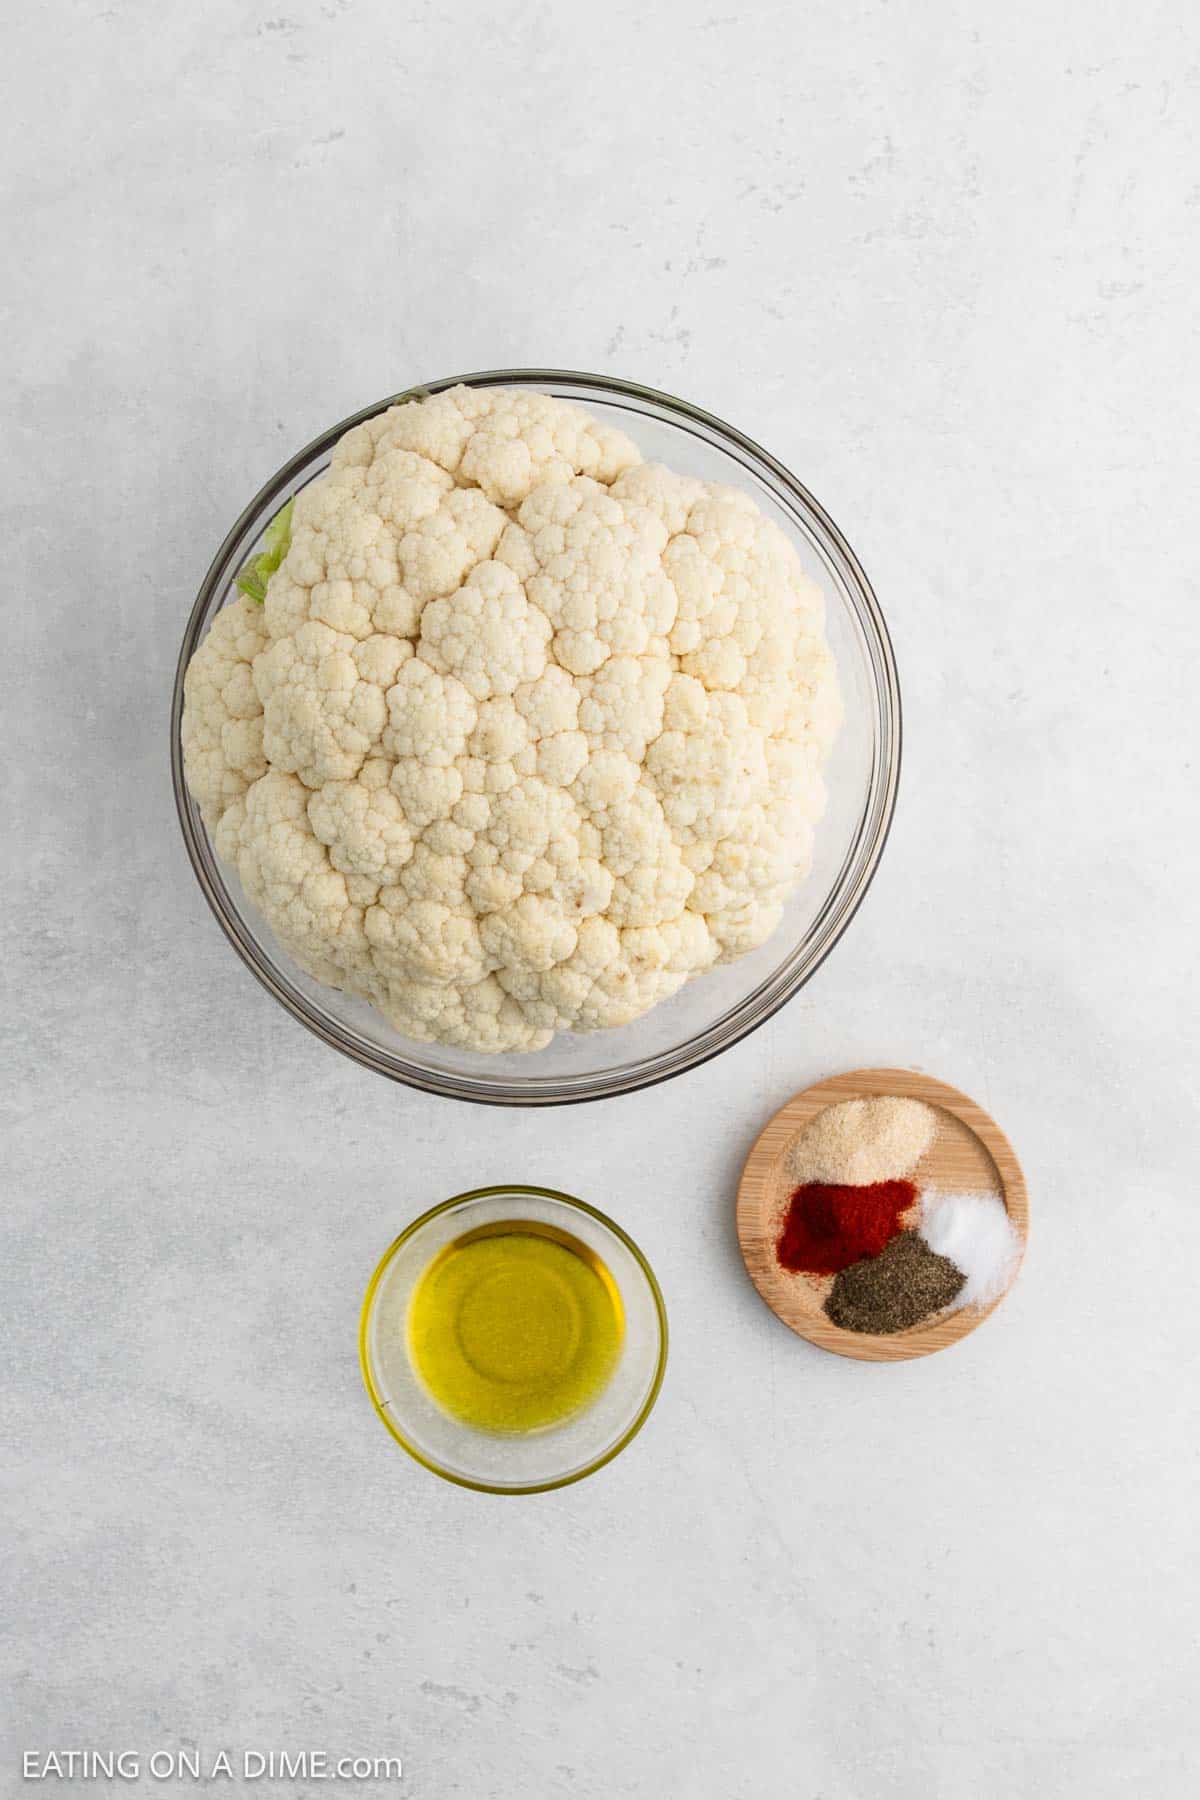
[[(13, 50), (0, 1791), (198, 1742), (398, 1751), (439, 1800), (1191, 1795), (1193, 5), (59, 0)], [(536, 1116), (279, 1012), (166, 760), (257, 482), (522, 362), (795, 468), (909, 731), (804, 995)], [(1034, 1208), (1002, 1312), (891, 1370), (792, 1339), (732, 1238), (759, 1123), (864, 1062), (977, 1094)], [(637, 1445), (516, 1503), (410, 1465), (354, 1361), (396, 1228), (497, 1177), (612, 1208), (675, 1330)]]

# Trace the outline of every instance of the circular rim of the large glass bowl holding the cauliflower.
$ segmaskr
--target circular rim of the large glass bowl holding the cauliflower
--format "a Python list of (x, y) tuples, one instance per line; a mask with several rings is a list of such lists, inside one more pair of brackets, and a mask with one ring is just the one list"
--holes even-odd
[[(331, 450), (347, 430), (354, 425), (362, 425), (365, 419), (376, 418), (389, 407), (399, 405), (407, 400), (428, 398), (432, 394), (444, 392), (450, 387), (543, 387), (547, 383), (560, 382), (574, 387), (599, 389), (617, 400), (648, 401), (653, 407), (660, 407), (667, 416), (675, 416), (689, 425), (700, 425), (703, 430), (714, 434), (718, 445), (723, 439), (723, 448), (734, 446), (736, 450), (754, 457), (790, 499), (799, 500), (801, 508), (824, 535), (826, 549), (833, 549), (849, 574), (849, 581), (846, 583), (849, 599), (856, 614), (856, 623), (867, 637), (869, 650), (873, 652), (869, 657), (874, 673), (873, 698), (876, 700), (880, 718), (883, 720), (883, 743), (880, 747), (882, 754), (876, 754), (873, 760), (867, 801), (864, 805), (851, 851), (842, 862), (842, 869), (826, 895), (819, 913), (820, 920), (831, 909), (837, 909), (835, 925), (831, 931), (826, 927), (826, 941), (819, 943), (817, 950), (802, 968), (792, 970), (783, 979), (779, 979), (777, 968), (772, 970), (752, 994), (745, 995), (739, 1003), (736, 1003), (736, 1006), (727, 1008), (725, 1013), (721, 1013), (714, 1022), (703, 1026), (700, 1031), (689, 1035), (671, 1049), (657, 1051), (653, 1057), (631, 1058), (619, 1064), (615, 1069), (601, 1073), (592, 1071), (567, 1076), (531, 1075), (527, 1078), (509, 1075), (495, 1084), (486, 1084), (482, 1076), (477, 1078), (471, 1073), (425, 1067), (419, 1062), (374, 1046), (367, 1039), (353, 1035), (342, 1021), (322, 1012), (315, 1003), (300, 994), (300, 990), (284, 985), (288, 981), (286, 970), (277, 965), (275, 958), (266, 954), (255, 934), (246, 931), (243, 922), (236, 916), (232, 905), (227, 902), (228, 884), (216, 866), (216, 853), (207, 841), (207, 833), (201, 837), (200, 812), (196, 803), (191, 799), (184, 779), (184, 677), (187, 673), (187, 664), (200, 644), (201, 626), (212, 599), (230, 574), (228, 560), (234, 547), (255, 518), (259, 518), (268, 508), (270, 513), (275, 511), (273, 502), (288, 488), (291, 479), (313, 457), (324, 455)], [(171, 697), (171, 785), (175, 790), (175, 808), (184, 833), (187, 859), (212, 914), (250, 974), (275, 1001), (279, 1001), (281, 1006), (291, 1013), (293, 1019), (299, 1019), (302, 1026), (306, 1026), (331, 1049), (338, 1049), (344, 1057), (360, 1062), (376, 1075), (385, 1075), (389, 1080), (401, 1082), (407, 1087), (439, 1094), (446, 1100), (473, 1102), (477, 1105), (543, 1107), (583, 1105), (590, 1100), (613, 1100), (621, 1094), (637, 1093), (644, 1087), (655, 1087), (658, 1082), (673, 1080), (676, 1075), (685, 1075), (689, 1069), (700, 1067), (712, 1057), (720, 1057), (725, 1049), (732, 1049), (734, 1044), (739, 1044), (761, 1024), (766, 1024), (768, 1019), (786, 1006), (788, 1001), (795, 999), (801, 988), (811, 981), (824, 959), (846, 934), (871, 887), (871, 882), (874, 880), (896, 812), (901, 751), (903, 715), (900, 675), (896, 670), (896, 655), (887, 623), (862, 563), (822, 504), (788, 468), (784, 468), (783, 463), (777, 461), (777, 457), (770, 454), (770, 450), (765, 450), (752, 437), (747, 437), (745, 432), (739, 432), (734, 425), (729, 425), (716, 414), (705, 412), (702, 407), (694, 407), (691, 401), (680, 400), (675, 394), (666, 394), (658, 389), (644, 387), (637, 382), (626, 382), (612, 374), (592, 374), (585, 369), (479, 369), (470, 374), (448, 374), (432, 382), (419, 382), (398, 394), (389, 394), (385, 400), (362, 407), (338, 425), (320, 432), (320, 436), (313, 437), (302, 450), (297, 450), (295, 455), (288, 457), (288, 461), (243, 508), (212, 558), (184, 630), (184, 643), (180, 646), (180, 657), (175, 671), (175, 689)], [(766, 999), (761, 997), (765, 988), (772, 990)], [(721, 1031), (720, 1028), (730, 1019), (736, 1022)], [(545, 1085), (538, 1085), (540, 1082), (545, 1082)]]

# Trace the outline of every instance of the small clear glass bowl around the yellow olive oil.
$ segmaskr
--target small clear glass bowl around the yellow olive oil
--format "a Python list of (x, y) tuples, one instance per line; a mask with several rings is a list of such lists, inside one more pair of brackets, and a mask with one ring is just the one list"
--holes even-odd
[[(624, 1309), (617, 1366), (579, 1413), (545, 1431), (479, 1431), (443, 1413), (408, 1361), (408, 1301), (446, 1244), (497, 1224), (565, 1231), (606, 1265)], [(619, 1456), (646, 1424), (667, 1366), (667, 1314), (653, 1269), (604, 1213), (554, 1188), (477, 1188), (421, 1213), (371, 1276), (358, 1325), (358, 1359), (371, 1402), (425, 1469), (484, 1494), (540, 1494), (569, 1487)]]

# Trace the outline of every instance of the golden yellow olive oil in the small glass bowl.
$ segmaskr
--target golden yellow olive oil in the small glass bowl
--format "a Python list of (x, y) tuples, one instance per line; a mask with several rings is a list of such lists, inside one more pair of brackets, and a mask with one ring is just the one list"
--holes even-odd
[(624, 1309), (601, 1258), (506, 1220), (446, 1244), (408, 1301), (408, 1359), (443, 1411), (480, 1431), (558, 1426), (608, 1384)]

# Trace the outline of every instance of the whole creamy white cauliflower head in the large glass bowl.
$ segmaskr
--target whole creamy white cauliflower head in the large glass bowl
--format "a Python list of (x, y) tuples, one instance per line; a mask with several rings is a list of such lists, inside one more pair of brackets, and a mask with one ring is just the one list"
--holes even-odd
[(822, 594), (747, 493), (457, 387), (347, 432), (290, 531), (193, 657), (182, 733), (315, 979), (525, 1051), (766, 940), (840, 700)]

